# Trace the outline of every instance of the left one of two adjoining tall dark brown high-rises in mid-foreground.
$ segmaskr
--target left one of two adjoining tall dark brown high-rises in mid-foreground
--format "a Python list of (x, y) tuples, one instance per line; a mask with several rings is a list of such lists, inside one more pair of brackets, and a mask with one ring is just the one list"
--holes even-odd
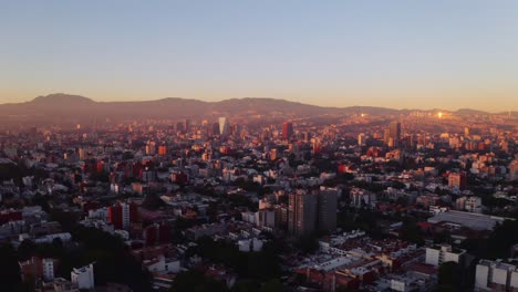
[(315, 230), (317, 201), (314, 194), (301, 189), (289, 195), (288, 232), (303, 236)]

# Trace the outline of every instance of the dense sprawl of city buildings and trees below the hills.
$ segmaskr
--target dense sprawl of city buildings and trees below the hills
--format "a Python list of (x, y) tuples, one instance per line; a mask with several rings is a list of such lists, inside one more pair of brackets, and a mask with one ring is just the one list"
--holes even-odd
[(266, 112), (4, 125), (1, 290), (518, 290), (516, 113)]

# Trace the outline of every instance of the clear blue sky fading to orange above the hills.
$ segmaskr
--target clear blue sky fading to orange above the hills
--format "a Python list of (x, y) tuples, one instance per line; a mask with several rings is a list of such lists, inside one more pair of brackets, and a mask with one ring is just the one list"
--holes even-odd
[(0, 103), (518, 109), (518, 1), (0, 0)]

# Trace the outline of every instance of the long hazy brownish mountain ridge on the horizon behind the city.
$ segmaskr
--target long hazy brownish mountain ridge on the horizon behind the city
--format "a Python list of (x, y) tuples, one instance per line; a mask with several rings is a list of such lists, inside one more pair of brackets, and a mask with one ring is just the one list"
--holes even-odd
[[(122, 121), (145, 118), (180, 119), (186, 117), (215, 116), (276, 116), (280, 118), (311, 117), (322, 115), (397, 115), (410, 109), (351, 106), (322, 107), (286, 100), (246, 97), (220, 102), (204, 102), (179, 97), (167, 97), (141, 102), (95, 102), (91, 98), (50, 94), (38, 96), (30, 102), (0, 105), (0, 119), (3, 123), (60, 124), (95, 121)], [(484, 112), (459, 109), (459, 115)], [(7, 121), (6, 121), (7, 119)]]

